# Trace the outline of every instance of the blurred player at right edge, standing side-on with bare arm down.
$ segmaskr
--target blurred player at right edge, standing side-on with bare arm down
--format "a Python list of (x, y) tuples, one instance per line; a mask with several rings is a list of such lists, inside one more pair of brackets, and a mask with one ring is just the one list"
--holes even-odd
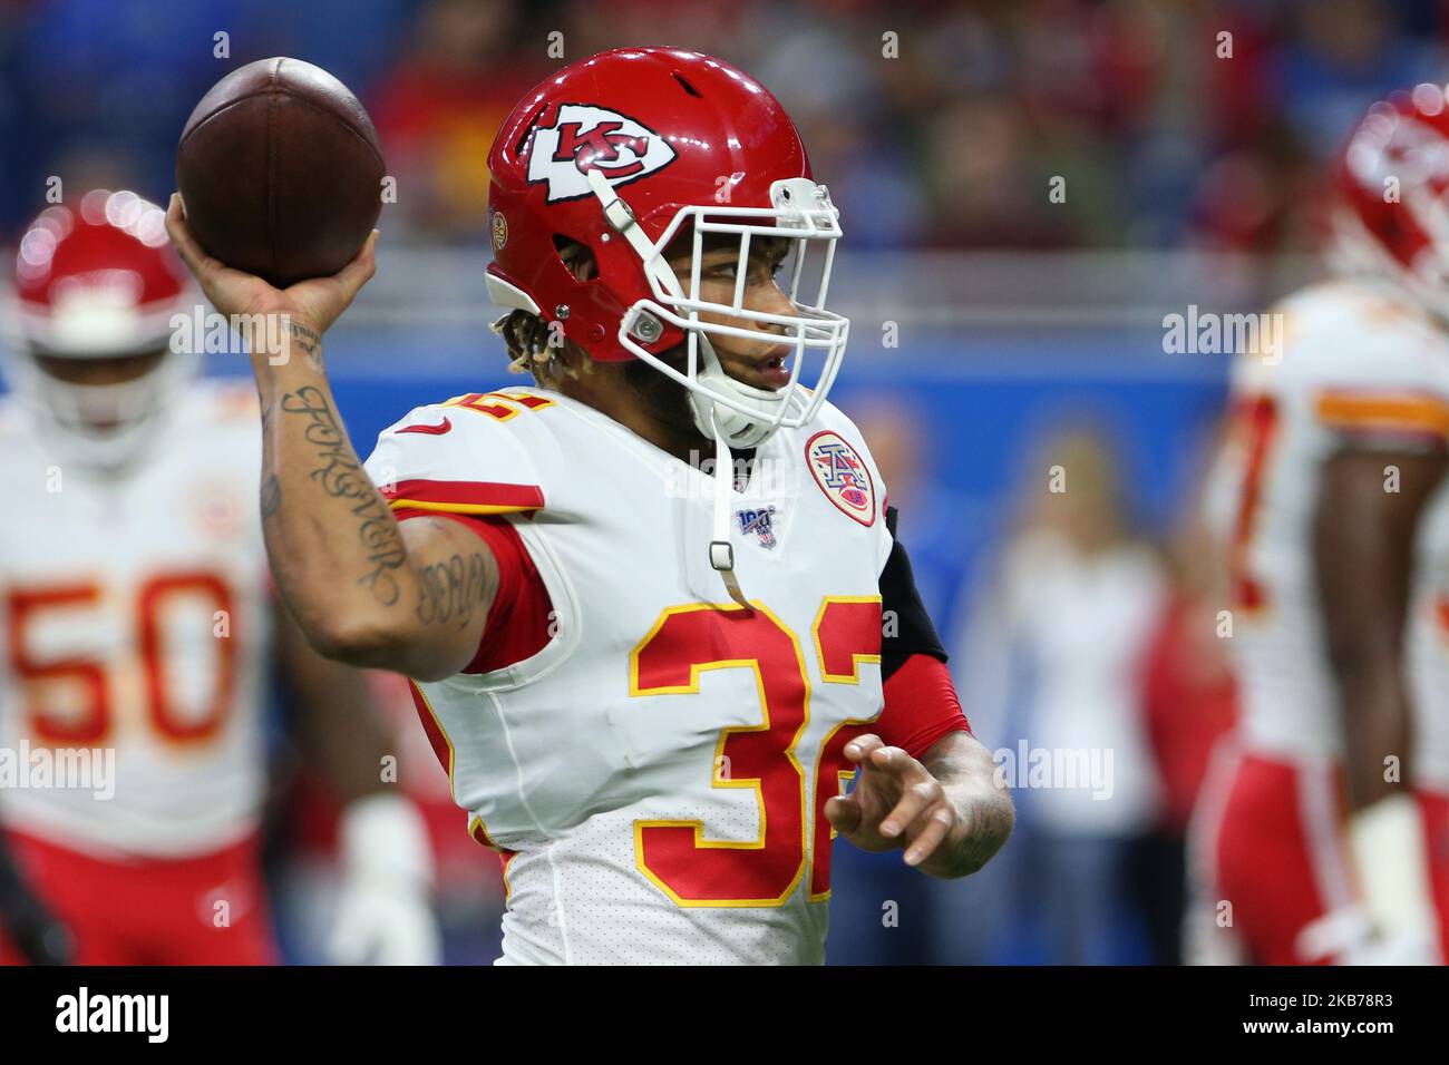
[[(1336, 172), (1340, 277), (1239, 358), (1220, 526), (1239, 751), (1201, 807), (1208, 946), (1449, 953), (1449, 107), (1377, 104)], [(1230, 910), (1219, 909), (1229, 903)], [(1220, 927), (1222, 917), (1232, 927)]]

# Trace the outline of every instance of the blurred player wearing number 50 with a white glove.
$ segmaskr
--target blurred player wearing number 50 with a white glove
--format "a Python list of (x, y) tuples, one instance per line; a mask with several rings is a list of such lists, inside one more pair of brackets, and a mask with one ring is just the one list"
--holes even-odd
[[(0, 787), (0, 958), (277, 959), (258, 859), (275, 662), (303, 748), (351, 800), (332, 955), (432, 961), (429, 855), (383, 794), (362, 677), (316, 655), (270, 587), (255, 397), (171, 351), (199, 298), (161, 209), (103, 191), (48, 209), (14, 283), (0, 749), (20, 780)], [(64, 778), (32, 768), (67, 759)]]

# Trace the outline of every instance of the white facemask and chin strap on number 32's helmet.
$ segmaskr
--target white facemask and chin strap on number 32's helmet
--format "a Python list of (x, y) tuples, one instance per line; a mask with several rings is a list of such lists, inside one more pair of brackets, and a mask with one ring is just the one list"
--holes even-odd
[[(651, 297), (630, 304), (619, 323), (619, 343), (640, 361), (682, 384), (691, 397), (696, 427), (706, 436), (723, 436), (733, 448), (753, 448), (780, 429), (807, 425), (826, 400), (845, 356), (849, 320), (824, 309), (840, 239), (839, 212), (829, 191), (809, 178), (775, 181), (771, 207), (682, 207), (658, 241), (649, 241), (633, 212), (598, 171), (588, 172), (590, 187), (604, 206), (604, 216), (639, 255)], [(669, 265), (667, 249), (677, 236), (690, 241), (691, 267), (681, 278)], [(724, 236), (738, 242), (735, 291), (729, 303), (706, 301), (701, 262), (706, 239)], [(790, 242), (790, 284), (785, 291), (794, 313), (769, 313), (745, 306), (751, 245), (759, 239)], [(711, 241), (711, 249), (717, 241)], [(819, 265), (813, 265), (819, 262)], [(804, 293), (811, 296), (806, 297)], [(746, 325), (701, 320), (701, 314)], [(667, 326), (684, 333), (684, 368), (669, 365), (645, 348)], [(711, 338), (738, 338), (787, 345), (790, 381), (780, 390), (756, 388), (732, 378), (720, 365)], [(822, 352), (813, 387), (800, 383), (807, 352)]]

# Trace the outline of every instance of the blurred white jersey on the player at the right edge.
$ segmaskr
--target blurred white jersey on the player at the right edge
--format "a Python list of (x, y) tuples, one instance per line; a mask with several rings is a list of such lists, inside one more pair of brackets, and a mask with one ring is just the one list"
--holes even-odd
[[(1449, 436), (1449, 336), (1391, 291), (1333, 283), (1274, 309), (1279, 361), (1240, 355), (1210, 494), (1233, 582), (1242, 733), (1268, 756), (1337, 758), (1313, 522), (1321, 464), (1348, 439), (1404, 449)], [(1385, 478), (1391, 471), (1385, 469)], [(1420, 520), (1408, 622), (1419, 781), (1449, 787), (1449, 485)]]

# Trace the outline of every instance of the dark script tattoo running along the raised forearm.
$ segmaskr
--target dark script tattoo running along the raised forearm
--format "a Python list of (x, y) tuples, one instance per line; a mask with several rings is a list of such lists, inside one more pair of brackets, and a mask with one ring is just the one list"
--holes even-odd
[(407, 564), (407, 549), (397, 522), (354, 456), (327, 397), (320, 388), (303, 385), (281, 397), (281, 409), (285, 414), (306, 420), (303, 436), (317, 449), (317, 464), (307, 477), (333, 498), (355, 500), (352, 516), (358, 520), (356, 535), (367, 548), (372, 567), (358, 578), (358, 584), (369, 588), (383, 606), (393, 606), (400, 594), (397, 571)]

